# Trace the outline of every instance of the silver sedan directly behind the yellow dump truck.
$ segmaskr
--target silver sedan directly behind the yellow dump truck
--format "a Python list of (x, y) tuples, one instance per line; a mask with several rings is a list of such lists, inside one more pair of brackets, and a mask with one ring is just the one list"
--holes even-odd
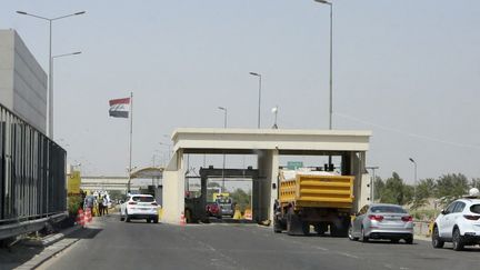
[(368, 242), (369, 239), (399, 242), (403, 239), (407, 243), (413, 243), (413, 219), (401, 206), (368, 204), (351, 221), (349, 239), (362, 242)]

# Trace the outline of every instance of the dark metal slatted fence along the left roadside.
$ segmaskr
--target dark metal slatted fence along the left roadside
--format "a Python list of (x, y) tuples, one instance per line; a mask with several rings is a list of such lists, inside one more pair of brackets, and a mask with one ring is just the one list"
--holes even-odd
[(66, 211), (66, 157), (0, 104), (0, 227)]

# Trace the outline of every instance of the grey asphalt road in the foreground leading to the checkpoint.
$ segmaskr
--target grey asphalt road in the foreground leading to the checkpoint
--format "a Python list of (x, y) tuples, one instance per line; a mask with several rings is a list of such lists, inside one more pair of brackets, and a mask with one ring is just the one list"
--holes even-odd
[(99, 218), (40, 269), (479, 269), (480, 249), (289, 237), (256, 224), (169, 226)]

